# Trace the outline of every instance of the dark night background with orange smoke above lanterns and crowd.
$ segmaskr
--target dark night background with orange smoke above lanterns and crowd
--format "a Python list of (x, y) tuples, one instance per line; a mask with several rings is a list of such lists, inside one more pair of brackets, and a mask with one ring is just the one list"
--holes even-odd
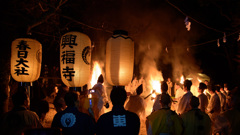
[[(204, 73), (214, 83), (239, 82), (237, 0), (68, 0), (58, 5), (59, 0), (1, 4), (3, 80), (3, 75), (10, 73), (10, 46), (16, 38), (31, 37), (41, 42), (42, 65), (52, 67), (59, 66), (59, 42), (64, 33), (87, 34), (94, 45), (92, 60), (104, 62), (106, 41), (114, 30), (122, 29), (135, 43), (137, 77), (148, 74), (146, 64), (153, 64), (165, 79)], [(184, 24), (186, 16), (190, 31)]]

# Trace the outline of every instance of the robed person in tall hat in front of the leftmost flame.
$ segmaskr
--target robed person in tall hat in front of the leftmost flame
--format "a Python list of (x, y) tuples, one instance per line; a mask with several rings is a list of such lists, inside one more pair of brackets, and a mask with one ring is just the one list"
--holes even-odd
[[(103, 113), (104, 113), (104, 108), (103, 106), (108, 104), (108, 97), (107, 97), (107, 93), (103, 87), (103, 76), (100, 75), (98, 77), (98, 81), (97, 84), (95, 84), (93, 86), (93, 90), (95, 90), (94, 93), (92, 93), (93, 98), (98, 99), (97, 101), (97, 111), (94, 112), (95, 115), (95, 119), (97, 120)], [(96, 109), (93, 109), (96, 110)]]

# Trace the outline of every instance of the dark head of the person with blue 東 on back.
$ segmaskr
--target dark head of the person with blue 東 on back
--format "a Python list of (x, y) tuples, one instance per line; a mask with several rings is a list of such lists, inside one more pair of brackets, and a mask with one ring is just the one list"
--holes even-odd
[(123, 87), (113, 87), (110, 94), (110, 99), (112, 101), (113, 106), (114, 105), (123, 106), (127, 99), (127, 93)]

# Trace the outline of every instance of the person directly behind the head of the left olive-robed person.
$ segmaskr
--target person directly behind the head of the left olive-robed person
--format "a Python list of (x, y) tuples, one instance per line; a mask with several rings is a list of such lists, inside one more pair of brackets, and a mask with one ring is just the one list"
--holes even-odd
[[(161, 82), (161, 92), (162, 92), (162, 93), (167, 93), (167, 90), (168, 90), (168, 85), (167, 85), (167, 83), (164, 82), (164, 81), (162, 81), (162, 82)], [(158, 95), (156, 96), (155, 102), (153, 103), (153, 110), (152, 110), (152, 112), (157, 111), (157, 110), (159, 110), (159, 109), (162, 108), (162, 106), (161, 106), (161, 104), (160, 104), (160, 102), (159, 102), (160, 97), (161, 97), (161, 94), (158, 94)]]

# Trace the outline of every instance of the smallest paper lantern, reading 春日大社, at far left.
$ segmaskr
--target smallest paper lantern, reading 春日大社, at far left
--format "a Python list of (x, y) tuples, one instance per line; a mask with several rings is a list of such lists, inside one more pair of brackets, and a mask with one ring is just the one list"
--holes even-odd
[(12, 42), (11, 75), (18, 82), (36, 81), (41, 72), (42, 45), (35, 39), (18, 38)]

